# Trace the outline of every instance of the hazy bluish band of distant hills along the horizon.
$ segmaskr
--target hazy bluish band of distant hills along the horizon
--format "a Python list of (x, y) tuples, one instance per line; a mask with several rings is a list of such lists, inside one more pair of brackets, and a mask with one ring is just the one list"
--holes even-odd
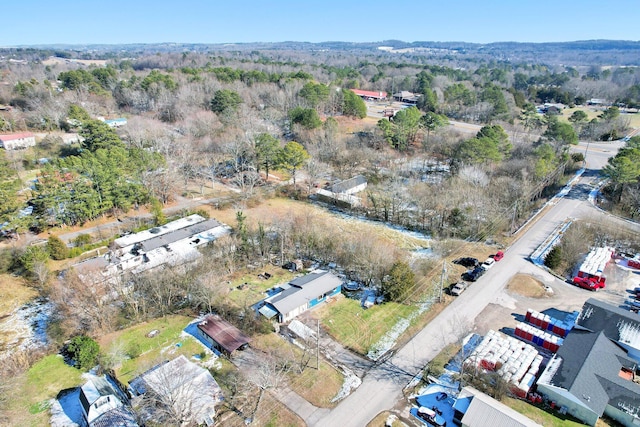
[[(84, 59), (109, 59), (117, 56), (131, 56), (152, 52), (208, 52), (208, 51), (246, 51), (246, 50), (288, 50), (288, 51), (349, 51), (367, 52), (379, 55), (411, 55), (455, 56), (460, 59), (494, 59), (508, 62), (544, 63), (550, 65), (616, 65), (640, 66), (640, 41), (625, 40), (582, 40), (573, 42), (553, 43), (467, 43), (467, 42), (404, 42), (400, 40), (385, 40), (381, 42), (352, 43), (341, 41), (327, 41), (321, 43), (308, 42), (278, 42), (278, 43), (133, 43), (124, 45), (35, 45), (15, 46), (10, 49), (0, 49), (2, 52), (16, 53), (34, 52), (34, 50), (67, 52), (67, 57), (81, 57)], [(75, 52), (76, 55), (69, 55)]]

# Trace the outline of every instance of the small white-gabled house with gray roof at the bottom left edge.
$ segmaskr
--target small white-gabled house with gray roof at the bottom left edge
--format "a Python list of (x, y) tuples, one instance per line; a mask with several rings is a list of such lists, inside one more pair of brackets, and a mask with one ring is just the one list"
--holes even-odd
[(135, 416), (128, 407), (128, 399), (110, 376), (91, 376), (80, 387), (80, 407), (90, 427), (137, 427)]

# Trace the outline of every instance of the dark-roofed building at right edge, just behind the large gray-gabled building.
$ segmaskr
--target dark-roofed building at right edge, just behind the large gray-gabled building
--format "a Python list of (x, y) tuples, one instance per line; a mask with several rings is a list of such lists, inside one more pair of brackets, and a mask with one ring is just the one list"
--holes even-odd
[(618, 306), (589, 298), (582, 306), (576, 328), (604, 332), (607, 338), (640, 362), (640, 316)]

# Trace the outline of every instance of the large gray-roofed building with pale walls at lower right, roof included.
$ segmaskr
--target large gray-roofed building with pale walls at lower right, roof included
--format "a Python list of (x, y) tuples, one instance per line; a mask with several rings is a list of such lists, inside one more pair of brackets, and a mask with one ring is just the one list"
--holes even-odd
[(624, 426), (640, 424), (636, 362), (604, 332), (574, 329), (538, 380), (538, 393), (582, 422), (603, 414)]

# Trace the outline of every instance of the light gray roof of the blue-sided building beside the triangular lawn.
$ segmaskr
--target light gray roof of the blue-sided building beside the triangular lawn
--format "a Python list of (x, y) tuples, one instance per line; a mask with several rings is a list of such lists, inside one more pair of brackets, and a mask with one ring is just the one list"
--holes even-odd
[(334, 290), (342, 284), (342, 280), (330, 271), (323, 271), (298, 277), (289, 284), (291, 285), (289, 289), (285, 289), (270, 302), (281, 314), (287, 314), (310, 300)]

